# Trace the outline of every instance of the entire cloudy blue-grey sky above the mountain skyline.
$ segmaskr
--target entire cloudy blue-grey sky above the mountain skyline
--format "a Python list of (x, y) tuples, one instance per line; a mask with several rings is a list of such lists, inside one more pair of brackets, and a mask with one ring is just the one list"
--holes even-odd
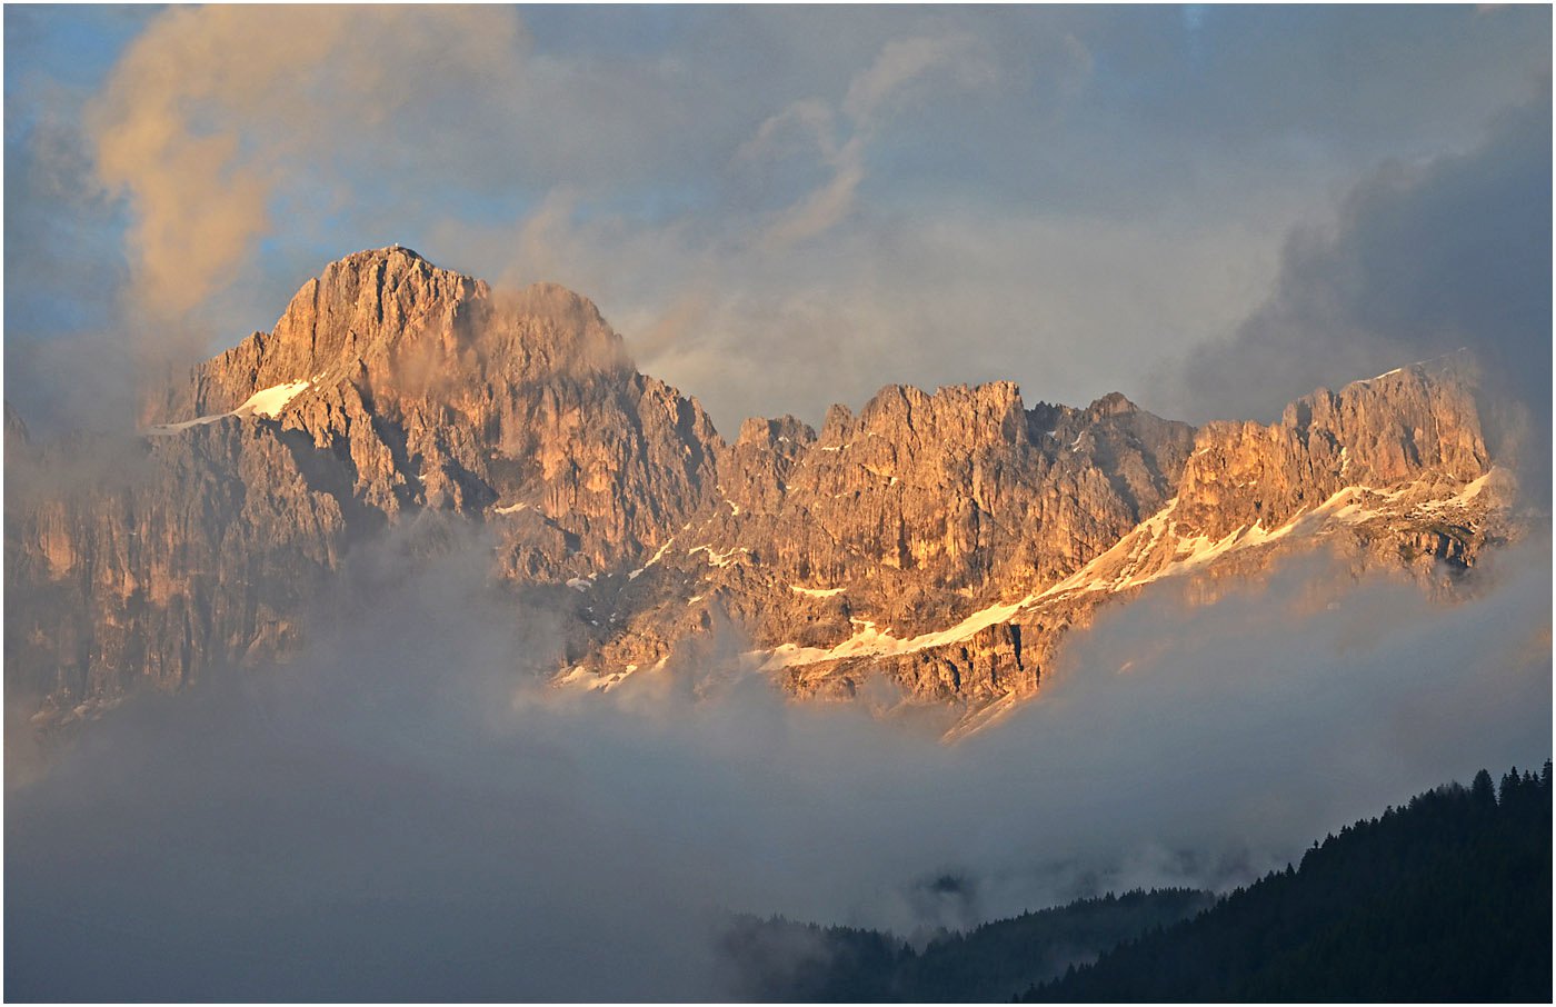
[[(584, 293), (727, 434), (887, 383), (1203, 422), (1458, 346), (1545, 375), (1550, 28), (11, 6), (5, 392), (39, 430), (121, 426), (140, 375), (395, 241)], [(1548, 416), (1540, 384), (1517, 391)]]

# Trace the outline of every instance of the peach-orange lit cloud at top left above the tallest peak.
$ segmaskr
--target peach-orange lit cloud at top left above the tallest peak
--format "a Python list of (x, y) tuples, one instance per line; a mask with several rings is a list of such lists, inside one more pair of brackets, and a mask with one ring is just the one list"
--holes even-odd
[(299, 170), (355, 159), (353, 146), (373, 148), (384, 168), (414, 160), (401, 118), (436, 145), (443, 103), (520, 89), (523, 37), (499, 8), (184, 8), (157, 19), (87, 112), (98, 174), (135, 213), (138, 305), (180, 318), (232, 283)]

